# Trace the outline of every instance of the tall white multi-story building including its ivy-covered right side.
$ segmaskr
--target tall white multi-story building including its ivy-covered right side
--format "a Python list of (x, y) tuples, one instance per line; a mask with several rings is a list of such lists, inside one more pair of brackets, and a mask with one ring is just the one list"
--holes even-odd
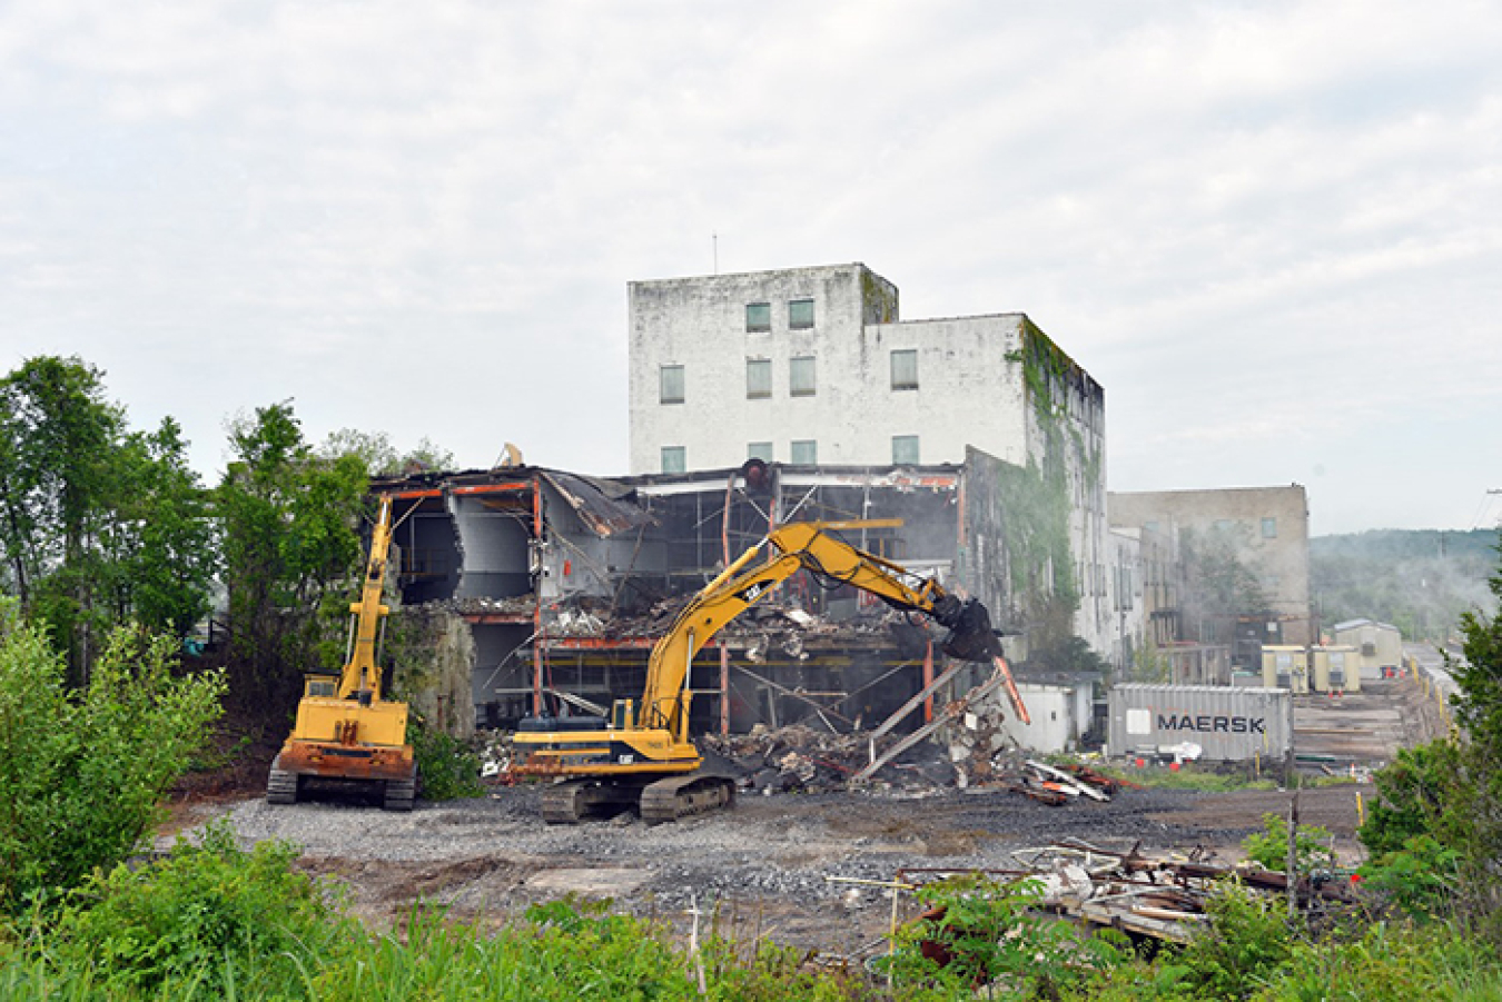
[(904, 321), (864, 264), (638, 281), (629, 308), (632, 473), (976, 449), (1015, 467), (972, 499), (1006, 508), (1014, 535), (973, 541), (970, 566), (1000, 547), (1015, 598), (1072, 593), (1075, 632), (1111, 650), (1105, 395), (1026, 314)]

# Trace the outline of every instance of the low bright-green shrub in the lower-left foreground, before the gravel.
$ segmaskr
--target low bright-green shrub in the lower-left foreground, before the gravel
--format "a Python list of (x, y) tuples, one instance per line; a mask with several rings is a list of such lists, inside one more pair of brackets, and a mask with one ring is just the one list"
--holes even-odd
[(111, 996), (296, 988), (300, 969), (359, 939), (296, 858), (285, 843), (243, 852), (228, 823), (210, 825), (159, 862), (96, 873), (57, 916), (50, 955), (65, 970), (92, 966)]

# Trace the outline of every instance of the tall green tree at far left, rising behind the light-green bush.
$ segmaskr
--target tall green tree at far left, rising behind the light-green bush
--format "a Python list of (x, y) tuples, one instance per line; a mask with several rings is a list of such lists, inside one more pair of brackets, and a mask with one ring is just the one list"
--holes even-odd
[(128, 434), (92, 365), (42, 356), (0, 380), (0, 583), (77, 682), (114, 625), (182, 634), (207, 611), (213, 520), (182, 430)]

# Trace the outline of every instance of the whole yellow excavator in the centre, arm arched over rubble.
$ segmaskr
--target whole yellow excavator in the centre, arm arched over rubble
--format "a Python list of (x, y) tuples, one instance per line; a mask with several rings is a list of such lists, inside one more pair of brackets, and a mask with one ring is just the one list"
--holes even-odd
[[(933, 617), (949, 629), (943, 650), (952, 658), (1002, 656), (990, 613), (979, 601), (951, 595), (933, 578), (918, 578), (829, 535), (867, 524), (871, 523), (787, 523), (746, 550), (683, 607), (652, 647), (640, 703), (616, 700), (608, 720), (523, 720), (515, 735), (520, 760), (511, 771), (556, 780), (542, 792), (544, 820), (575, 823), (595, 813), (634, 807), (644, 822), (658, 823), (728, 805), (734, 799), (734, 780), (704, 771), (703, 757), (688, 738), (689, 665), (725, 623), (799, 569)], [(746, 569), (763, 548), (769, 548), (768, 559)]]

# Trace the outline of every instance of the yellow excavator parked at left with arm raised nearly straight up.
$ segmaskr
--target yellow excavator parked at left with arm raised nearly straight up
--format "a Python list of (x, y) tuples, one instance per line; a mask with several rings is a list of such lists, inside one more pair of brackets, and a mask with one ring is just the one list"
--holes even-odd
[(297, 721), (266, 781), (270, 804), (296, 804), (308, 780), (374, 786), (388, 811), (410, 811), (418, 763), (407, 744), (407, 705), (382, 699), (376, 647), (391, 550), (391, 497), (380, 499), (360, 601), (350, 605), (348, 658), (339, 675), (305, 676)]

